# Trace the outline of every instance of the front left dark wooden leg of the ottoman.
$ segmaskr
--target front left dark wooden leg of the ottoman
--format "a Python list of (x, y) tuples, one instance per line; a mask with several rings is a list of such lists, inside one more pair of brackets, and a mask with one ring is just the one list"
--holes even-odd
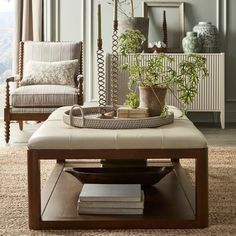
[(40, 160), (37, 152), (28, 150), (28, 200), (29, 228), (40, 229), (41, 222), (41, 185)]

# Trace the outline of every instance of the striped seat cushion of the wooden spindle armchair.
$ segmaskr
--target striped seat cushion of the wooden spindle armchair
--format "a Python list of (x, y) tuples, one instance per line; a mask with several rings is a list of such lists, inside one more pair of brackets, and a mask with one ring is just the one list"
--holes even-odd
[(78, 103), (76, 88), (64, 85), (22, 86), (11, 94), (13, 107), (60, 107)]

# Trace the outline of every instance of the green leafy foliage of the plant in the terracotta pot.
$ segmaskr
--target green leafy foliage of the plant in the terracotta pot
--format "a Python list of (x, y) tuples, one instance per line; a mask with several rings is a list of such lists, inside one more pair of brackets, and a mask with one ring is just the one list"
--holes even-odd
[[(119, 37), (120, 53), (123, 56), (133, 53), (141, 48), (145, 37), (138, 30), (128, 29)], [(174, 69), (175, 59), (168, 54), (156, 54), (152, 59), (146, 60), (144, 54), (135, 53), (131, 64), (121, 66), (130, 73), (128, 80), (129, 94), (134, 96), (138, 86), (167, 88), (177, 99), (183, 113), (198, 93), (200, 80), (208, 75), (206, 59), (198, 54), (189, 54), (187, 58)], [(154, 89), (153, 89), (154, 92)], [(154, 92), (155, 93), (155, 92)], [(177, 95), (178, 94), (178, 95)], [(130, 96), (127, 96), (130, 98)], [(130, 99), (126, 100), (129, 104)], [(166, 113), (166, 107), (163, 112)]]

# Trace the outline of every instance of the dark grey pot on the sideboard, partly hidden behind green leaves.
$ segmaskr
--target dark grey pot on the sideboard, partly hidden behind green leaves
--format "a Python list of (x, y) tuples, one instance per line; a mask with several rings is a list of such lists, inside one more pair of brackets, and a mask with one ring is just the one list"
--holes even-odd
[(146, 38), (141, 52), (148, 49), (148, 29), (149, 19), (146, 17), (127, 17), (119, 21), (119, 33), (122, 34), (126, 29), (139, 30)]

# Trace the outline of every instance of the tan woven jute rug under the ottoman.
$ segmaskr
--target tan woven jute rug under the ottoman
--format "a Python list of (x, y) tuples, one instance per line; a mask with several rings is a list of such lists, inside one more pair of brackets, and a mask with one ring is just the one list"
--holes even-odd
[[(52, 162), (43, 162), (43, 179)], [(193, 165), (185, 162), (193, 174)], [(209, 227), (186, 230), (61, 230), (28, 229), (26, 148), (0, 149), (0, 235), (236, 235), (236, 148), (209, 150)]]

